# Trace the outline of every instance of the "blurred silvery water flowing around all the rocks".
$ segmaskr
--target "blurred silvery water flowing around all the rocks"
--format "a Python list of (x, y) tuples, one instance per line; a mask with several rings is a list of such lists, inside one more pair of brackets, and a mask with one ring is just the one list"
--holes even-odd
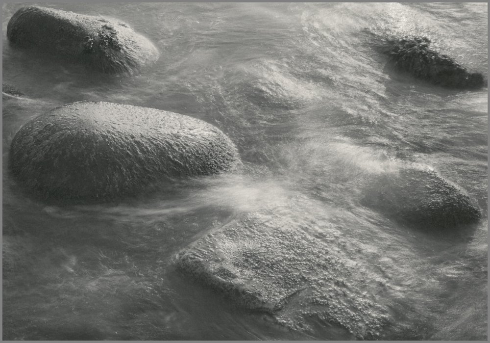
[[(382, 338), (487, 339), (487, 88), (395, 75), (372, 48), (372, 33), (426, 35), (486, 74), (486, 3), (45, 6), (121, 19), (161, 56), (141, 75), (109, 77), (19, 51), (5, 32), (21, 5), (3, 5), (3, 82), (25, 94), (3, 100), (3, 339), (354, 339), (313, 317), (304, 330), (286, 328), (175, 267), (199, 237), (270, 206), (290, 208), (284, 218), (298, 222), (335, 217), (338, 235), (358, 247), (352, 259), (378, 268), (388, 285), (393, 329)], [(9, 175), (12, 137), (80, 100), (202, 119), (236, 144), (244, 170), (112, 204), (39, 202)], [(376, 177), (407, 165), (459, 185), (482, 218), (420, 230), (362, 205)]]

